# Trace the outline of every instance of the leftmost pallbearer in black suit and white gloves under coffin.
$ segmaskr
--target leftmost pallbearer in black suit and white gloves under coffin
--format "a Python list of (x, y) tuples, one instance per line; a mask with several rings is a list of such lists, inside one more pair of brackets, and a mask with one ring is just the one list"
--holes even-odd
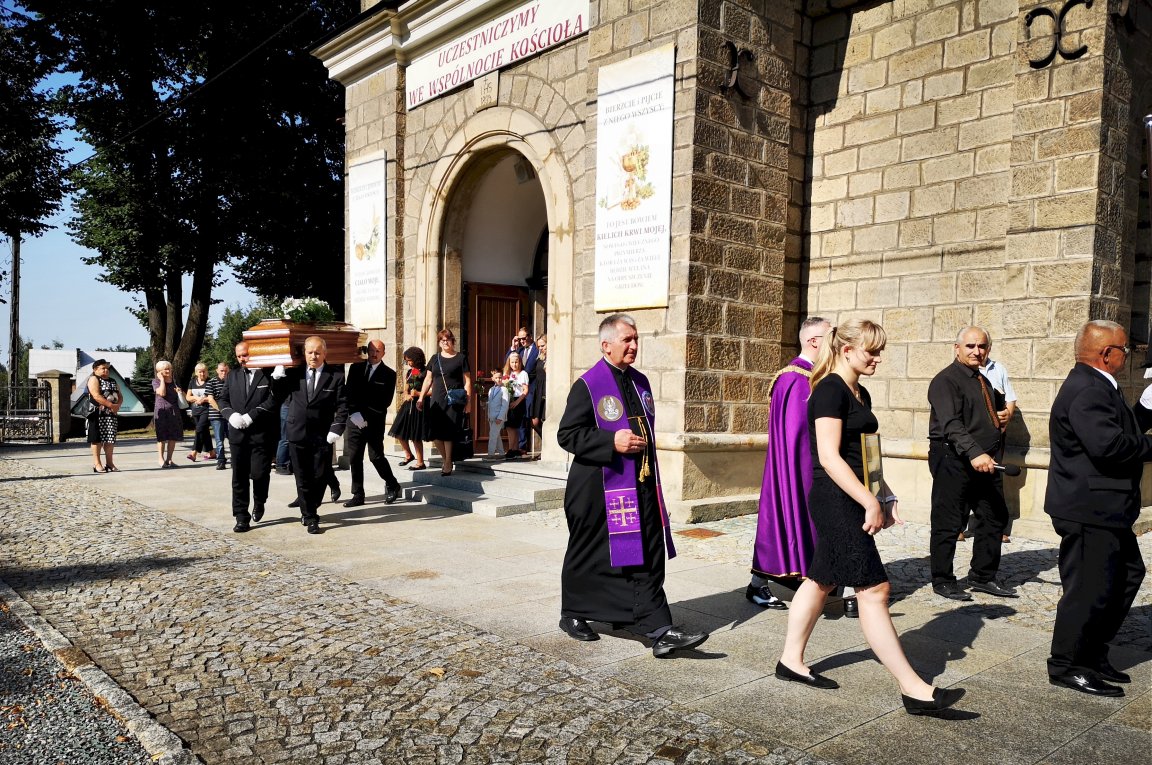
[[(272, 397), (272, 379), (267, 372), (244, 368), (248, 364), (247, 342), (236, 344), (236, 361), (240, 363), (223, 379), (217, 403), (220, 416), (228, 423), (232, 514), (236, 518), (232, 530), (240, 533), (248, 531), (251, 521), (259, 523), (264, 517), (272, 455), (280, 437), (280, 404)], [(248, 512), (249, 499), (253, 500), (251, 514)]]

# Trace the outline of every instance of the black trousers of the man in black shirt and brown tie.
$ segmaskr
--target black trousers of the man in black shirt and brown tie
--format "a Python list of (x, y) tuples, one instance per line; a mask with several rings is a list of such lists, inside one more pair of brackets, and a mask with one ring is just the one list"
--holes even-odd
[(1008, 528), (1003, 479), (999, 472), (978, 472), (967, 457), (940, 441), (932, 441), (929, 446), (929, 470), (932, 472), (932, 533), (929, 543), (932, 584), (956, 581), (953, 574), (956, 537), (964, 528), (969, 507), (976, 522), (968, 578), (991, 582), (1000, 569), (1000, 547), (1003, 531)]

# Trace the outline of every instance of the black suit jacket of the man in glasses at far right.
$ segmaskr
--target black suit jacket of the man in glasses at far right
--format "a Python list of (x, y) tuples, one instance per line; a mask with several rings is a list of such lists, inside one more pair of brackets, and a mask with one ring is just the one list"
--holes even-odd
[(1152, 459), (1152, 411), (1129, 407), (1099, 371), (1077, 363), (1052, 402), (1052, 460), (1044, 512), (1104, 527), (1130, 527), (1140, 512), (1140, 476)]

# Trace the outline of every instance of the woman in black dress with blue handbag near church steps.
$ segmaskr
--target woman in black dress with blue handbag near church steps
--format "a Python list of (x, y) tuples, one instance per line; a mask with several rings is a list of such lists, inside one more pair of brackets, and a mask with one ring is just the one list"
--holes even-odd
[[(456, 351), (456, 335), (452, 330), (440, 330), (437, 344), (440, 353), (429, 359), (429, 373), (416, 399), (416, 408), (424, 412), (429, 438), (435, 441), (435, 448), (444, 457), (440, 475), (450, 476), (452, 446), (460, 438), (471, 411), (472, 371), (468, 368), (468, 358)], [(463, 391), (463, 400), (448, 403), (449, 397), (458, 395), (449, 394), (449, 391)]]

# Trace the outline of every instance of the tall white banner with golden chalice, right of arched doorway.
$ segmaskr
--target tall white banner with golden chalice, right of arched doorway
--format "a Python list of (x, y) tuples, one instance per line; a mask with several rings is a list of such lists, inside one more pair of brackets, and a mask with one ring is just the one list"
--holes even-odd
[(596, 310), (668, 305), (676, 48), (600, 67)]

